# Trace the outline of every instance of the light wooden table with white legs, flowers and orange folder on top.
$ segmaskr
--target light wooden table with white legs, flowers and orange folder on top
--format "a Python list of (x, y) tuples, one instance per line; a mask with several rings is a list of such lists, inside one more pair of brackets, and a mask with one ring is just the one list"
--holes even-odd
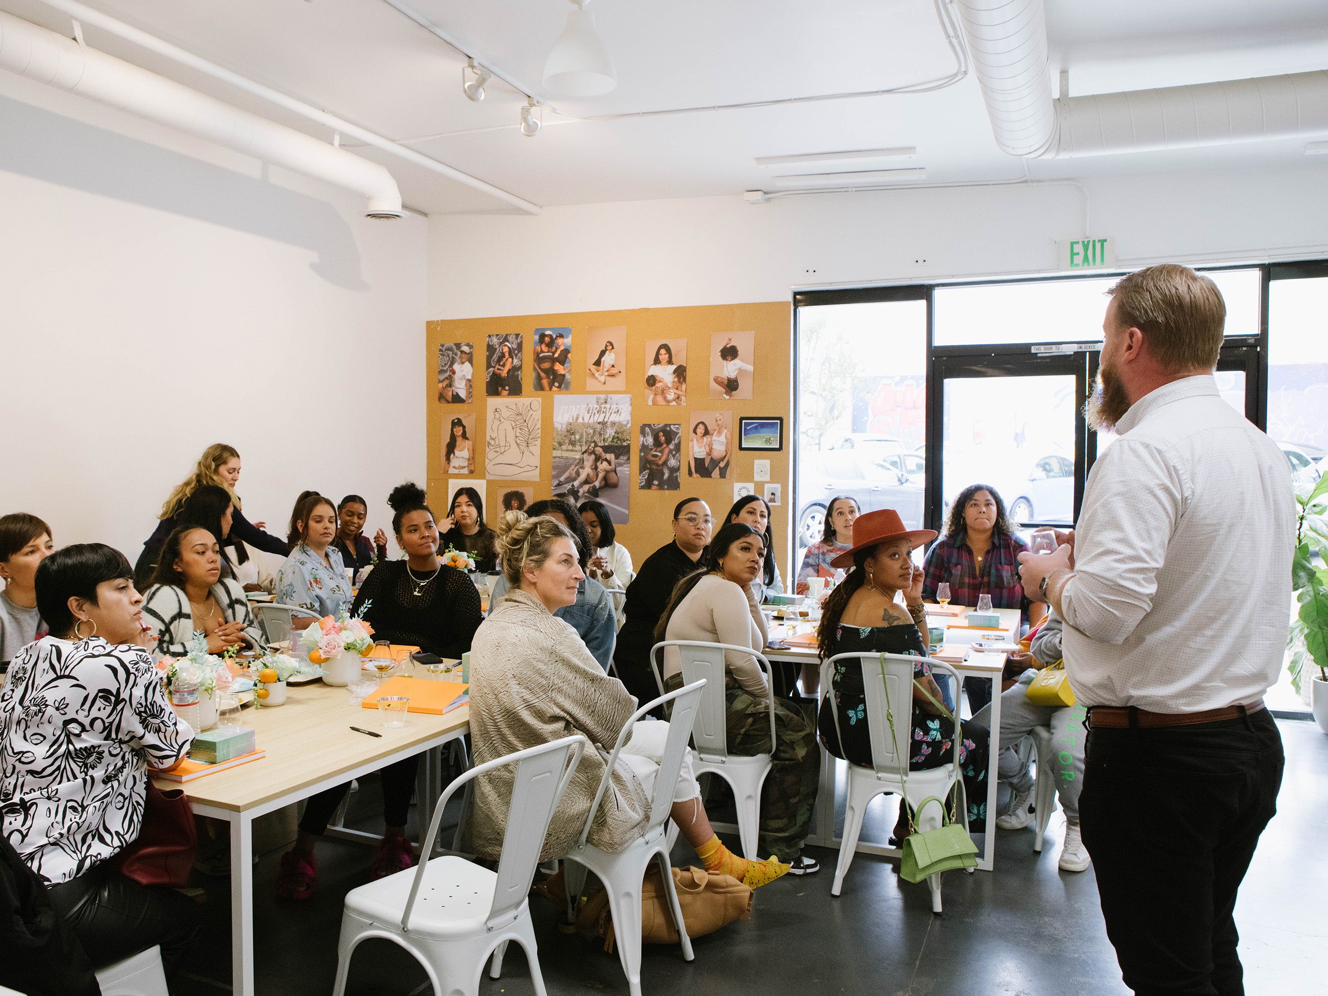
[[(251, 996), (254, 988), (254, 853), (251, 825), (256, 817), (315, 793), (368, 774), (394, 761), (463, 737), (470, 709), (445, 716), (408, 713), (406, 725), (384, 729), (377, 710), (349, 705), (345, 688), (321, 681), (290, 688), (286, 704), (248, 709), (244, 725), (267, 752), (260, 761), (230, 768), (181, 786), (158, 781), (162, 789), (183, 788), (199, 815), (231, 825), (231, 988)], [(381, 733), (368, 737), (351, 726)], [(429, 782), (441, 781), (437, 765), (426, 765)], [(428, 826), (441, 785), (420, 793), (420, 825)]]

